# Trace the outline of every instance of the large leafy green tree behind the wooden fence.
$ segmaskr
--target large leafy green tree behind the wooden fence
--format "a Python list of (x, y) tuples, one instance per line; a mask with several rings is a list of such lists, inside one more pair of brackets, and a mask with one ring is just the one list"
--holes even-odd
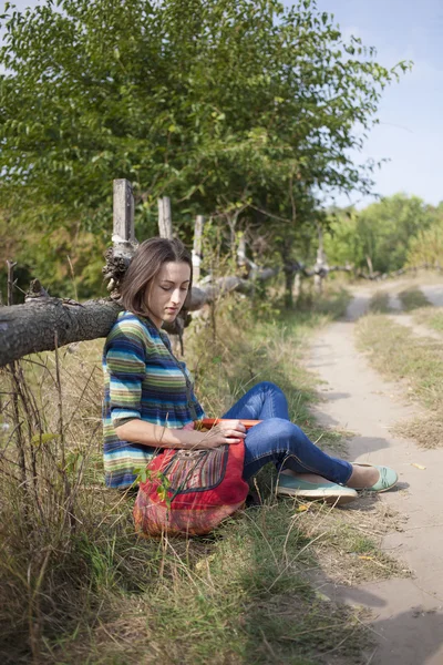
[(2, 22), (0, 209), (20, 247), (40, 245), (31, 270), (70, 255), (84, 293), (115, 177), (133, 183), (141, 238), (168, 195), (185, 241), (199, 213), (289, 260), (320, 191), (371, 188), (349, 149), (408, 68), (344, 41), (313, 0), (45, 0)]

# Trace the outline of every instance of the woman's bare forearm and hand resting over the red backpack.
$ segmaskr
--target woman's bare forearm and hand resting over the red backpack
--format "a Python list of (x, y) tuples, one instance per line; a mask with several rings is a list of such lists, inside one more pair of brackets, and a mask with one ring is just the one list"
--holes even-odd
[(132, 441), (152, 448), (202, 449), (217, 448), (225, 443), (238, 443), (246, 437), (245, 426), (239, 420), (226, 420), (208, 432), (194, 429), (172, 429), (134, 418), (115, 428), (122, 441)]

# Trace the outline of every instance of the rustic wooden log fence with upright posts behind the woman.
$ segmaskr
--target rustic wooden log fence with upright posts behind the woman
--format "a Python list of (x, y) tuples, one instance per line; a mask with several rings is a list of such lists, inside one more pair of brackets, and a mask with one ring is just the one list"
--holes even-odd
[[(173, 237), (171, 201), (163, 197), (158, 201), (158, 227), (162, 237)], [(279, 268), (259, 268), (246, 257), (245, 244), (240, 243), (238, 252), (239, 266), (248, 265), (249, 279), (238, 276), (228, 276), (198, 284), (200, 278), (202, 234), (204, 218), (196, 218), (193, 267), (194, 283), (190, 294), (189, 310), (200, 309), (205, 304), (214, 303), (223, 294), (237, 290), (250, 294), (256, 280), (266, 280), (279, 273)], [(293, 262), (285, 266), (285, 273), (300, 276), (315, 277), (318, 290), (321, 290), (323, 278), (332, 272), (351, 272), (351, 266), (328, 266), (321, 245), (321, 231), (319, 232), (320, 245), (316, 265), (309, 269)], [(106, 265), (103, 268), (104, 278), (111, 295), (107, 299), (75, 303), (71, 299), (51, 297), (34, 279), (24, 305), (0, 307), (0, 367), (18, 360), (23, 356), (39, 351), (50, 351), (55, 348), (83, 341), (106, 337), (111, 330), (121, 306), (117, 303), (119, 286), (130, 265), (131, 258), (137, 247), (134, 233), (134, 197), (131, 183), (126, 180), (115, 180), (113, 183), (113, 235), (112, 247), (106, 252)], [(14, 264), (8, 262), (10, 279), (8, 280), (9, 303), (12, 301), (12, 270)], [(424, 266), (423, 266), (424, 267)], [(413, 269), (413, 268), (411, 268)], [(398, 270), (395, 275), (404, 274), (406, 269)], [(375, 279), (377, 275), (358, 276)], [(382, 276), (379, 276), (382, 278)], [(197, 283), (197, 284), (196, 284)], [(300, 284), (296, 285), (297, 288)], [(183, 332), (183, 321), (168, 329), (169, 332)]]

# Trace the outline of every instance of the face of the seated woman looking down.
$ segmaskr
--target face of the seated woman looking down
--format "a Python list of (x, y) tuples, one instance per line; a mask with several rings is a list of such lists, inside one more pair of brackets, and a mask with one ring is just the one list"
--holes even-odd
[(183, 262), (168, 262), (148, 284), (145, 304), (153, 323), (159, 328), (163, 321), (172, 323), (179, 313), (187, 296), (190, 268)]

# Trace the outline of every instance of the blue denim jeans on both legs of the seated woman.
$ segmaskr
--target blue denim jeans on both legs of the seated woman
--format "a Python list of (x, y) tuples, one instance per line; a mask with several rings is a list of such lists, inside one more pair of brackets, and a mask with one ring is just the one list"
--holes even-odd
[(290, 422), (286, 397), (274, 383), (254, 386), (224, 418), (264, 421), (253, 427), (245, 439), (245, 480), (268, 462), (274, 462), (278, 471), (318, 473), (340, 484), (346, 484), (352, 473), (349, 462), (326, 454)]

